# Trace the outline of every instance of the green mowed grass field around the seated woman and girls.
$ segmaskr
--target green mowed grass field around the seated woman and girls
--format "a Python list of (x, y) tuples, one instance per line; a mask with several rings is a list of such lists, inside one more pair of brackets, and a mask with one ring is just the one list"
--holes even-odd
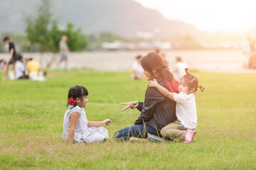
[[(114, 132), (134, 124), (148, 81), (128, 72), (50, 72), (47, 81), (0, 80), (0, 169), (256, 169), (256, 74), (191, 71), (198, 91), (197, 135), (183, 142), (115, 142)], [(4, 76), (4, 72), (0, 73)], [(104, 143), (63, 142), (68, 89), (85, 86), (88, 120), (112, 123)]]

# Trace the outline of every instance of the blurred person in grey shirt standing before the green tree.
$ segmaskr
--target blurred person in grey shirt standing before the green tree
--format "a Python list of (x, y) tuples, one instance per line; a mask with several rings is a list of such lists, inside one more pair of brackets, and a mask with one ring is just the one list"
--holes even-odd
[(70, 51), (67, 45), (68, 37), (67, 35), (63, 35), (60, 40), (60, 61), (58, 62), (58, 66), (60, 66), (61, 62), (65, 62), (65, 70), (68, 71), (68, 52)]

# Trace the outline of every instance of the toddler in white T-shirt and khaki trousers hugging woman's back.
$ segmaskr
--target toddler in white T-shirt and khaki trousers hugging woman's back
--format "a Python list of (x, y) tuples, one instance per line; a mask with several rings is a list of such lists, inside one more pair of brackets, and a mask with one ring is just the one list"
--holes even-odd
[(149, 81), (150, 87), (155, 87), (161, 94), (176, 101), (176, 117), (178, 118), (174, 123), (170, 123), (161, 129), (163, 137), (169, 137), (179, 140), (185, 140), (184, 143), (190, 143), (196, 135), (196, 98), (195, 94), (198, 88), (204, 90), (203, 86), (198, 86), (198, 78), (188, 73), (185, 69), (186, 75), (181, 77), (178, 85), (178, 92), (171, 93), (164, 87), (154, 81)]

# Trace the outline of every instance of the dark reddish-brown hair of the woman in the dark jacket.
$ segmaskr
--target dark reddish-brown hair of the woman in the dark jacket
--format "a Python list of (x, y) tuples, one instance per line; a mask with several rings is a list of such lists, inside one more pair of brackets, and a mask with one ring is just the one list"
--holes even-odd
[(156, 52), (149, 52), (146, 56), (142, 57), (141, 60), (142, 68), (149, 72), (151, 75), (154, 75), (152, 70), (156, 69), (156, 72), (159, 72), (163, 77), (164, 81), (172, 81), (174, 75), (171, 74), (169, 67), (164, 64), (162, 58)]

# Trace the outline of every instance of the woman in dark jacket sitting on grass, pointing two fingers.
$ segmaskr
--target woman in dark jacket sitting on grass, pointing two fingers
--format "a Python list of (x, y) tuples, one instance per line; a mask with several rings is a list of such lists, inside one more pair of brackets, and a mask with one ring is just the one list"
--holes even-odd
[[(173, 74), (169, 72), (169, 68), (156, 52), (150, 52), (142, 57), (141, 64), (148, 80), (156, 79), (165, 89), (171, 92), (178, 91), (178, 85)], [(115, 132), (115, 140), (143, 141), (145, 139), (142, 138), (147, 138), (147, 133), (161, 137), (161, 128), (177, 119), (175, 114), (176, 102), (166, 98), (152, 87), (148, 87), (146, 90), (144, 102), (131, 101), (121, 104), (127, 105), (122, 111), (127, 108), (137, 108), (141, 111), (141, 115), (134, 125)]]

